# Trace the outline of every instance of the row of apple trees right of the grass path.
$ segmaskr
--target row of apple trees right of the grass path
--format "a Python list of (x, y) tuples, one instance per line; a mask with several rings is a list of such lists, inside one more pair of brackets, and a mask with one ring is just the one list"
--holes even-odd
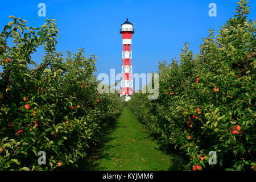
[(199, 55), (185, 43), (180, 64), (159, 64), (158, 100), (135, 94), (129, 101), (151, 134), (188, 156), (185, 169), (255, 170), (256, 22), (246, 19), (247, 4), (238, 2), (218, 35), (209, 31)]

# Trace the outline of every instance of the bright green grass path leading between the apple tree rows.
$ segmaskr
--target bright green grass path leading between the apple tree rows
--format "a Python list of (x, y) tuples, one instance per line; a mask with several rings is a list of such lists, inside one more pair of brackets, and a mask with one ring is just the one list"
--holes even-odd
[(127, 107), (115, 121), (113, 131), (104, 137), (104, 144), (86, 162), (85, 170), (166, 171), (178, 170), (179, 155), (167, 155), (156, 140), (143, 131), (135, 115)]

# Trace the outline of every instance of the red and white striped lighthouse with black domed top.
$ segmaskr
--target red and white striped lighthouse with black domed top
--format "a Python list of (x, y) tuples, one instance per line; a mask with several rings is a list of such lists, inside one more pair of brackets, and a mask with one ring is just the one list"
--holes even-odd
[(122, 28), (120, 33), (123, 38), (122, 47), (122, 80), (121, 80), (121, 92), (120, 96), (125, 96), (125, 101), (130, 100), (130, 96), (133, 92), (133, 67), (131, 59), (131, 36), (134, 34), (133, 24), (126, 22), (121, 24)]

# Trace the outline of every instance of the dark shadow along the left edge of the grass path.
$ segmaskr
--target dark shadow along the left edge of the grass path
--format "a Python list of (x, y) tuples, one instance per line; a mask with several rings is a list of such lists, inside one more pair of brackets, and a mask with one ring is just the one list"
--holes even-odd
[(78, 167), (67, 167), (63, 168), (63, 171), (101, 171), (105, 170), (103, 167), (99, 167), (100, 163), (97, 163), (99, 159), (111, 159), (112, 157), (108, 154), (104, 154), (104, 150), (109, 150), (110, 148), (116, 146), (105, 146), (105, 143), (108, 143), (115, 139), (115, 137), (111, 137), (110, 135), (113, 131), (118, 127), (116, 119), (109, 121), (108, 127), (102, 131), (105, 135), (102, 135), (100, 140), (101, 142), (97, 146), (91, 146), (90, 151), (86, 155), (85, 159), (79, 160), (77, 162)]

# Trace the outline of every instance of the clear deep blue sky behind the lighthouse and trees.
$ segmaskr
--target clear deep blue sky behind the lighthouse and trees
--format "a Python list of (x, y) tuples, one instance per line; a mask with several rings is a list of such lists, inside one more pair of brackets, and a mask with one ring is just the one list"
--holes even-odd
[[(38, 4), (46, 3), (46, 17), (38, 16)], [(216, 3), (217, 17), (210, 17), (209, 3)], [(209, 28), (217, 30), (232, 18), (238, 0), (184, 0), (184, 1), (1, 1), (0, 27), (14, 15), (28, 21), (28, 26), (41, 27), (45, 19), (57, 20), (60, 28), (57, 51), (76, 52), (84, 47), (87, 55), (98, 56), (97, 72), (110, 74), (110, 68), (121, 72), (122, 37), (121, 24), (126, 18), (134, 24), (133, 72), (156, 71), (158, 62), (171, 61), (179, 56), (184, 42), (199, 53), (202, 38)], [(256, 1), (251, 0), (249, 18), (256, 20)], [(42, 61), (43, 51), (32, 59)]]

